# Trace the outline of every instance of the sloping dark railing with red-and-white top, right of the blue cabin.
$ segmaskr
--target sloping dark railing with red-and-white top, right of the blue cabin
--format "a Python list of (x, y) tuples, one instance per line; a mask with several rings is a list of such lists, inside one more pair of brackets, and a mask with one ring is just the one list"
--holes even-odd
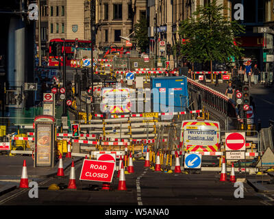
[(223, 114), (224, 116), (229, 116), (236, 118), (236, 108), (232, 99), (218, 92), (206, 85), (203, 85), (195, 80), (188, 78), (188, 93), (195, 92), (198, 94), (201, 103), (212, 107), (212, 109)]

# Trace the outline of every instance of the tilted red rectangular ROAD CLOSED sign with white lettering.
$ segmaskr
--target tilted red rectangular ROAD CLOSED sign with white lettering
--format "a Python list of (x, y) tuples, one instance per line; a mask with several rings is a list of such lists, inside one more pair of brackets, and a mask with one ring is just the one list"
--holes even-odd
[(115, 162), (84, 159), (80, 180), (111, 183)]

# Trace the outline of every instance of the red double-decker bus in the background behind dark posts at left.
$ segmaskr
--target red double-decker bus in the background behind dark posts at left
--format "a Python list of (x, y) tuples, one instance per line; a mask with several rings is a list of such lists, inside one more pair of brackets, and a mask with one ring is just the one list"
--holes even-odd
[(49, 66), (62, 66), (63, 62), (63, 42), (65, 42), (66, 51), (66, 66), (71, 66), (71, 60), (73, 60), (75, 53), (75, 46), (77, 46), (77, 51), (79, 50), (91, 50), (90, 40), (62, 40), (60, 38), (49, 40)]

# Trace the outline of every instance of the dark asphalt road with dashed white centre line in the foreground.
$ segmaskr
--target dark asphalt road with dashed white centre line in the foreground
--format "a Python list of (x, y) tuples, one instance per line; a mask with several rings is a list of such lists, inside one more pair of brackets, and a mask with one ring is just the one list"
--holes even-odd
[[(116, 172), (111, 191), (102, 191), (102, 183), (79, 181), (81, 160), (75, 164), (77, 190), (66, 189), (68, 168), (65, 177), (39, 181), (38, 198), (29, 198), (28, 189), (17, 188), (0, 196), (0, 205), (272, 205), (247, 183), (244, 183), (244, 198), (234, 198), (234, 184), (220, 182), (218, 173), (175, 175), (154, 172), (144, 168), (144, 162), (135, 161), (134, 174), (125, 175), (127, 191), (117, 190)], [(47, 190), (52, 183), (59, 184), (61, 190)]]

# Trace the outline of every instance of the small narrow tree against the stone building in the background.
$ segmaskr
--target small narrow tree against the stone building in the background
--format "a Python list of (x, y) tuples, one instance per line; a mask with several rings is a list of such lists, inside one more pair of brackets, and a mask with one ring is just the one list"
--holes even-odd
[(139, 47), (142, 52), (147, 51), (149, 38), (147, 33), (147, 19), (145, 16), (141, 16), (140, 20), (134, 25), (134, 31), (134, 41), (137, 47)]

